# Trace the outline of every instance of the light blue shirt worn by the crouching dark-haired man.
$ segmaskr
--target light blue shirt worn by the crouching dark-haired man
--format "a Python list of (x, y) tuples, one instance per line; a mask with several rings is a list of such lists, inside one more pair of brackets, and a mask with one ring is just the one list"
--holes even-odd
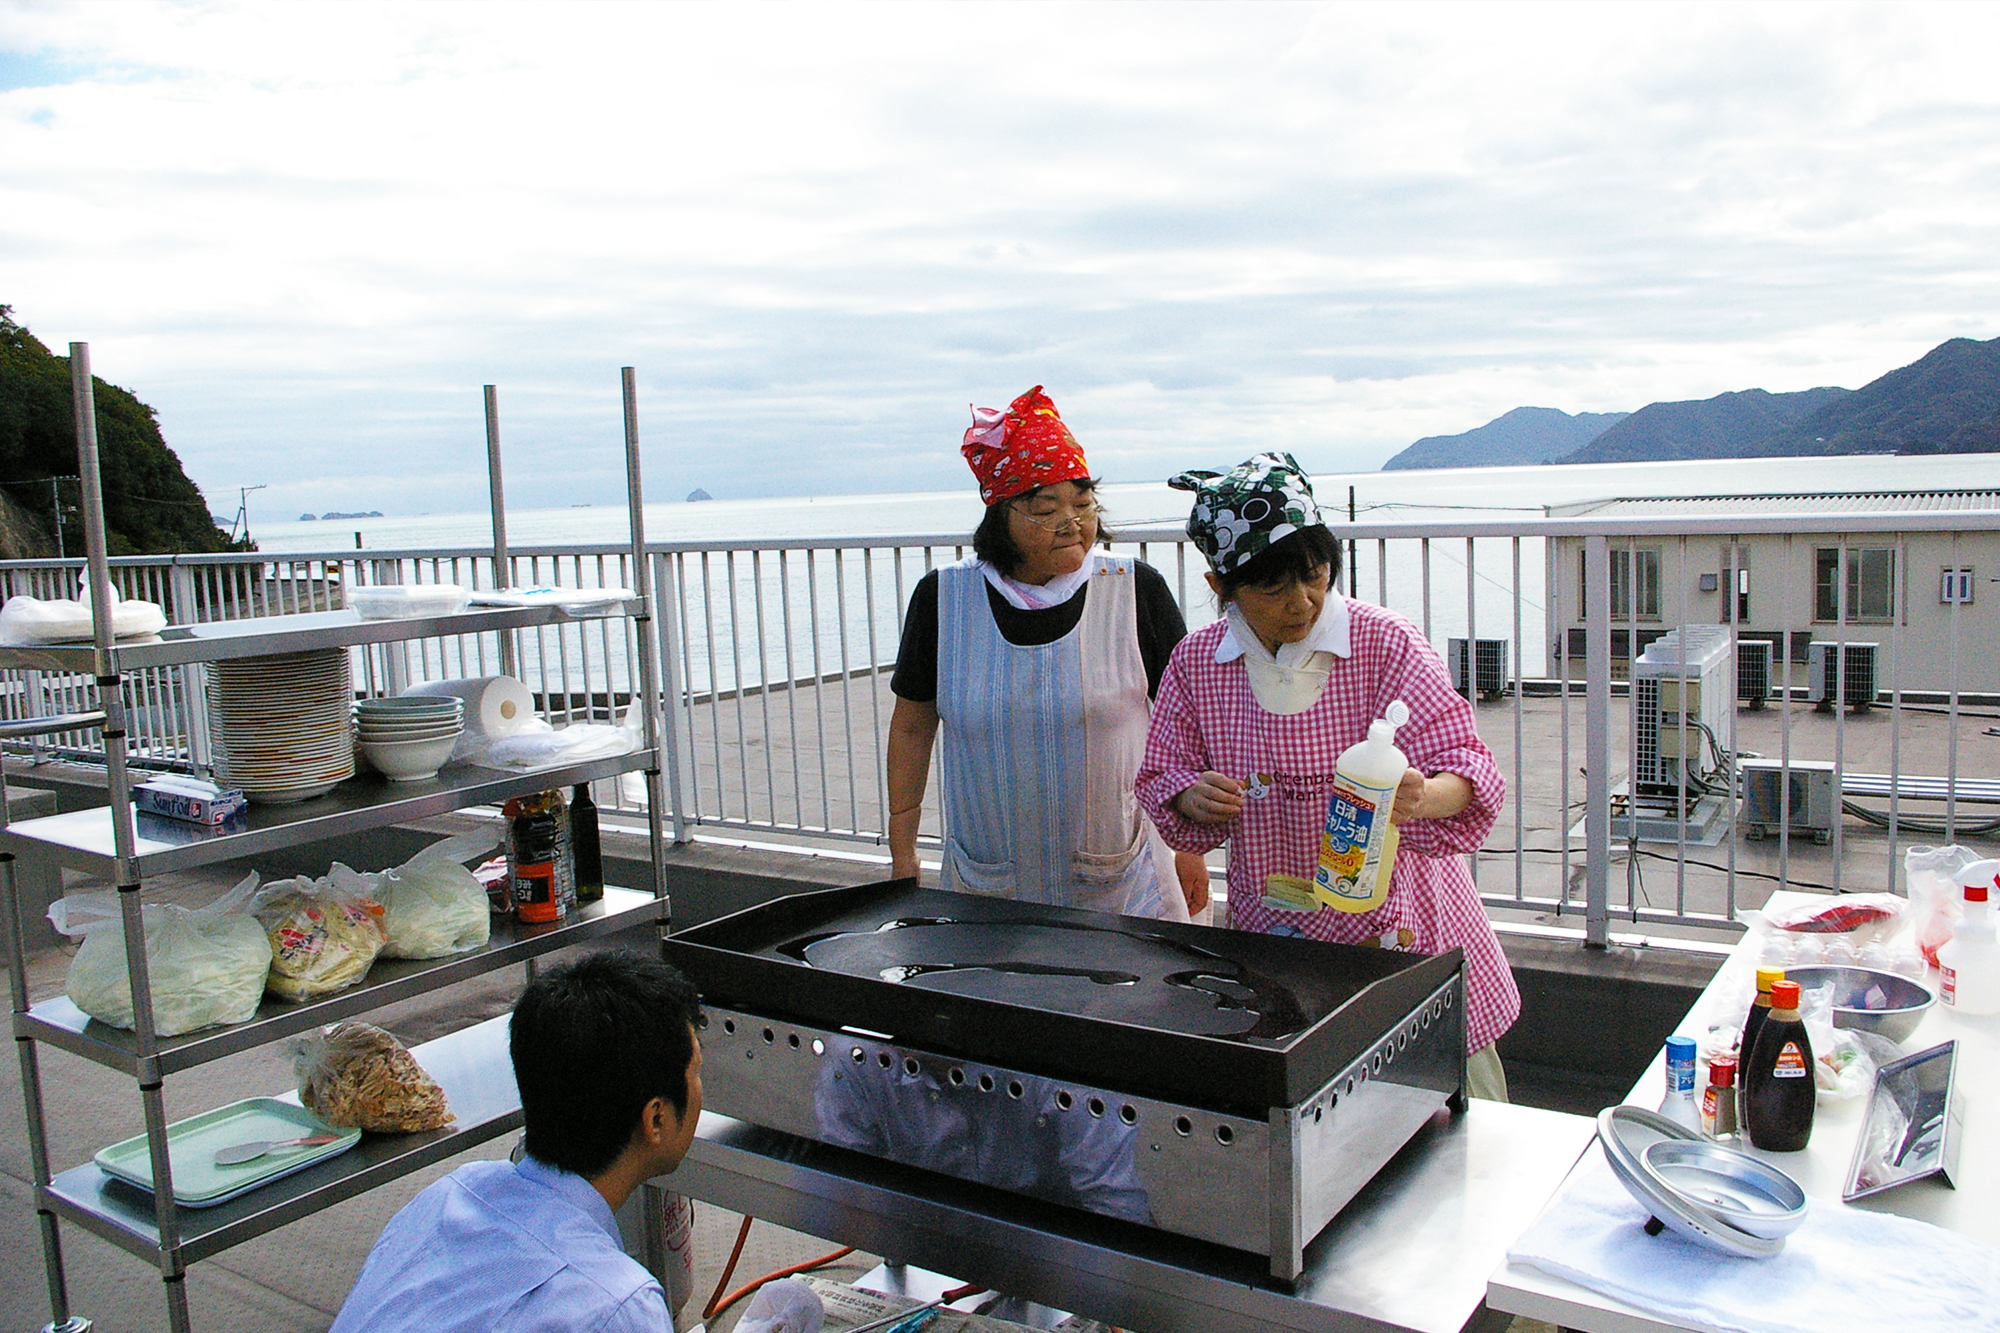
[(382, 1229), (332, 1333), (672, 1333), (590, 1181), (476, 1161)]

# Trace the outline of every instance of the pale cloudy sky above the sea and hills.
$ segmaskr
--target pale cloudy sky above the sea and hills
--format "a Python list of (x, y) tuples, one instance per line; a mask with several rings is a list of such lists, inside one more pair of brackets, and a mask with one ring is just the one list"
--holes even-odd
[(212, 506), (1372, 468), (2000, 334), (2000, 6), (4, 4), (0, 302)]

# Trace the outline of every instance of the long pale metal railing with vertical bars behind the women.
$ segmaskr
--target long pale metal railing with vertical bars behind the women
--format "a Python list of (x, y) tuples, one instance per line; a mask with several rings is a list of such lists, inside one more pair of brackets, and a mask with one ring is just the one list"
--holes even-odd
[[(1506, 809), (1474, 861), (1494, 909), (1580, 915), (1586, 939), (1598, 945), (1614, 919), (1728, 927), (1782, 885), (1894, 889), (1912, 837), (1956, 841), (1992, 829), (1972, 807), (2000, 803), (2000, 785), (1984, 773), (1962, 777), (1960, 755), (1966, 741), (1984, 739), (1986, 719), (1994, 717), (1986, 701), (2000, 697), (1974, 671), (1994, 656), (1992, 620), (1974, 618), (1992, 616), (1994, 598), (1984, 606), (1952, 604), (1948, 642), (1914, 634), (1908, 614), (1870, 626), (1878, 642), (1876, 697), (1868, 703), (1880, 707), (1868, 715), (1812, 711), (1800, 697), (1806, 669), (1786, 650), (1790, 640), (1780, 640), (1764, 697), (1746, 701), (1760, 707), (1738, 707), (1734, 669), (1752, 630), (1810, 636), (1846, 652), (1858, 638), (1846, 604), (1850, 544), (1896, 550), (1890, 596), (1904, 606), (1912, 594), (1912, 542), (1946, 540), (1950, 568), (1960, 566), (1962, 544), (1966, 564), (1974, 564), (1972, 548), (1984, 546), (1986, 568), (1994, 568), (2000, 512), (1368, 522), (1340, 524), (1336, 534), (1352, 596), (1406, 614), (1440, 650), (1466, 640), (1474, 658), (1462, 689), (1484, 695), (1478, 723), (1508, 777)], [(1714, 608), (1696, 614), (1702, 550), (1778, 540), (1786, 552), (1802, 542), (1810, 558), (1812, 542), (1804, 538), (1814, 534), (1834, 534), (1824, 540), (1838, 552), (1838, 614), (1830, 622), (1814, 622), (1810, 576), (1794, 576), (1782, 560), (1764, 596), (1766, 606), (1776, 598), (1778, 616), (1744, 620), (1734, 596), (1720, 598), (1720, 616)], [(1116, 548), (1160, 568), (1190, 628), (1214, 618), (1200, 578), (1204, 564), (1178, 528), (1130, 528)], [(884, 739), (894, 705), (888, 671), (902, 612), (916, 580), (964, 550), (964, 536), (936, 532), (656, 542), (644, 578), (634, 578), (626, 548), (542, 546), (510, 554), (508, 584), (644, 582), (666, 608), (654, 624), (662, 636), (666, 791), (676, 839), (706, 827), (882, 843)], [(1582, 606), (1572, 560), (1580, 560)], [(0, 564), (0, 592), (60, 594), (74, 586), (80, 564)], [(1640, 568), (1662, 586), (1640, 586)], [(470, 550), (134, 556), (114, 560), (112, 572), (122, 594), (162, 602), (176, 622), (324, 608), (338, 602), (340, 588), (366, 582), (494, 582), (490, 552)], [(1768, 580), (1770, 570), (1762, 574)], [(1622, 596), (1616, 616), (1614, 594)], [(1706, 622), (1716, 626), (1710, 632), (1726, 634), (1728, 699), (1724, 707), (1710, 699), (1716, 725), (1708, 735), (1708, 715), (1694, 707), (1666, 709), (1668, 723), (1658, 721), (1662, 699), (1692, 705), (1698, 681), (1666, 675), (1660, 685), (1660, 673), (1646, 666), (1642, 675), (1652, 671), (1652, 679), (1636, 691), (1630, 679), (1618, 679), (1620, 666), (1632, 675), (1632, 644), (1680, 622)], [(1580, 634), (1582, 679), (1572, 679), (1572, 632)], [(1482, 679), (1476, 658), (1496, 642), (1506, 648), (1506, 666), (1498, 679)], [(510, 646), (552, 721), (612, 717), (630, 701), (638, 677), (630, 624), (536, 630)], [(356, 683), (364, 693), (388, 693), (412, 679), (488, 675), (500, 660), (496, 634), (368, 648), (356, 650)], [(1716, 691), (1714, 681), (1708, 687)], [(90, 695), (88, 681), (50, 673), (6, 673), (0, 689), (8, 717), (82, 711)], [(194, 671), (138, 677), (128, 699), (138, 759), (206, 763), (200, 703)], [(68, 735), (38, 745), (88, 755), (94, 739)], [(1666, 781), (1664, 751), (1690, 757), (1670, 763)], [(1830, 785), (1832, 819), (1816, 819), (1790, 797), (1746, 813), (1734, 799), (1736, 763), (1754, 751), (1776, 757), (1776, 791), (1790, 793), (1800, 781)], [(1830, 777), (1814, 777), (1816, 765), (1828, 765)], [(634, 799), (620, 791), (606, 793), (604, 803), (616, 813), (630, 811)], [(1770, 817), (1770, 837), (1756, 837), (1766, 827), (1752, 815)], [(934, 811), (926, 827), (936, 831)], [(1808, 837), (1818, 833), (1826, 845)]]

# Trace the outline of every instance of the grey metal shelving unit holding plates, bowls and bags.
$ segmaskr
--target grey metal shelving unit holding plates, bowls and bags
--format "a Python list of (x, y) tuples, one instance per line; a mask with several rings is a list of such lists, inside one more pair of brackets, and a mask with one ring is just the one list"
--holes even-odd
[[(80, 1225), (106, 1241), (154, 1263), (166, 1289), (168, 1321), (176, 1333), (190, 1329), (186, 1271), (274, 1227), (310, 1217), (362, 1191), (394, 1181), (410, 1171), (444, 1161), (486, 1139), (520, 1125), (520, 1097), (506, 1059), (506, 1019), (492, 1019), (460, 1033), (424, 1043), (412, 1053), (444, 1087), (458, 1121), (440, 1131), (416, 1135), (368, 1135), (360, 1145), (296, 1175), (212, 1209), (174, 1203), (172, 1163), (166, 1143), (164, 1079), (252, 1047), (304, 1033), (336, 1019), (366, 1013), (574, 943), (584, 943), (634, 925), (654, 923), (664, 935), (670, 907), (664, 891), (662, 837), (662, 751), (660, 675), (652, 638), (652, 598), (638, 596), (570, 612), (562, 606), (498, 606), (450, 616), (410, 620), (362, 620), (350, 610), (180, 624), (144, 640), (116, 642), (110, 634), (110, 572), (104, 542), (104, 502), (98, 476), (96, 408), (90, 382), (90, 348), (70, 344), (70, 380), (76, 406), (78, 474), (82, 478), (84, 532), (90, 554), (92, 604), (98, 606), (90, 646), (0, 648), (0, 666), (32, 666), (88, 673), (96, 681), (100, 711), (60, 719), (0, 723), (0, 737), (30, 737), (78, 727), (102, 727), (110, 805), (98, 811), (54, 815), (4, 829), (0, 839), (0, 907), (8, 963), (12, 969), (14, 1043), (22, 1065), (22, 1097), (28, 1111), (30, 1159), (34, 1167), (36, 1215), (48, 1275), (50, 1323), (44, 1333), (86, 1333), (90, 1321), (68, 1307), (58, 1221)], [(622, 370), (626, 426), (626, 482), (632, 514), (634, 582), (644, 584), (646, 534), (642, 518), (638, 412), (632, 368)], [(506, 586), (506, 526), (500, 508), (498, 426), (492, 388), (486, 390), (488, 466), (494, 494), (494, 556), (498, 582)], [(126, 771), (126, 715), (122, 683), (126, 673), (150, 666), (190, 666), (196, 662), (270, 656), (310, 648), (354, 648), (416, 638), (498, 632), (502, 662), (510, 662), (512, 634), (524, 628), (560, 626), (582, 618), (622, 616), (638, 636), (644, 707), (644, 745), (616, 759), (598, 759), (538, 773), (512, 773), (448, 765), (432, 781), (390, 783), (354, 777), (326, 797), (298, 805), (252, 805), (246, 821), (228, 831), (204, 831), (132, 809), (132, 781)], [(210, 1027), (180, 1037), (160, 1037), (152, 1015), (152, 987), (146, 971), (140, 891), (150, 875), (254, 857), (280, 847), (350, 837), (384, 825), (406, 823), (494, 805), (510, 797), (570, 787), (622, 773), (644, 773), (648, 833), (654, 865), (654, 893), (606, 889), (600, 903), (572, 913), (562, 923), (522, 925), (508, 921), (494, 929), (486, 947), (444, 959), (378, 961), (362, 985), (326, 999), (290, 1005), (266, 999), (248, 1023)], [(4, 795), (4, 777), (0, 777)], [(4, 811), (4, 805), (0, 805)], [(4, 819), (4, 815), (0, 815)], [(28, 1003), (24, 975), (20, 901), (14, 885), (16, 855), (50, 857), (60, 865), (110, 879), (118, 889), (126, 941), (126, 971), (132, 983), (134, 1027), (114, 1029), (84, 1015), (68, 999)], [(118, 1069), (138, 1085), (146, 1113), (152, 1193), (106, 1177), (94, 1163), (52, 1173), (38, 1045), (52, 1045), (98, 1065)]]

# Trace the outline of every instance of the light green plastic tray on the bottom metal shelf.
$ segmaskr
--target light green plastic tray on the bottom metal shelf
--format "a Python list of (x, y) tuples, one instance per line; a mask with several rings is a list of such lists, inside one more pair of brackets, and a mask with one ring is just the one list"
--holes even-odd
[[(320, 1147), (294, 1147), (264, 1153), (258, 1159), (218, 1167), (216, 1149), (252, 1139), (302, 1139), (306, 1135), (340, 1135)], [(276, 1097), (250, 1097), (216, 1107), (166, 1127), (166, 1157), (174, 1167), (174, 1203), (206, 1209), (250, 1193), (258, 1185), (304, 1171), (338, 1157), (362, 1141), (358, 1129), (334, 1129), (320, 1123), (312, 1111)], [(98, 1171), (152, 1193), (152, 1153), (146, 1135), (114, 1143), (96, 1155)]]

